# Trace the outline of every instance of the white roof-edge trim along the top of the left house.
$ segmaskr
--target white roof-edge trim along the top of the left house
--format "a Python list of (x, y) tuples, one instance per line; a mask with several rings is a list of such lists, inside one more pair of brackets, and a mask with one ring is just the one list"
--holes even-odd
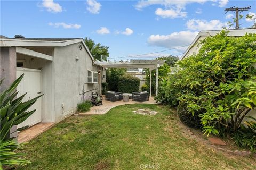
[(67, 45), (82, 43), (87, 53), (94, 61), (92, 54), (84, 43), (83, 38), (64, 40), (64, 41), (46, 41), (46, 40), (28, 40), (28, 39), (10, 39), (0, 38), (0, 47), (64, 47)]

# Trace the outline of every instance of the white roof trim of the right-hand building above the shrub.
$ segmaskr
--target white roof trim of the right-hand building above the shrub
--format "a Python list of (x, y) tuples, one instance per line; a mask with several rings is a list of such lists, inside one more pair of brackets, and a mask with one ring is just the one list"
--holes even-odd
[[(192, 43), (188, 46), (185, 53), (181, 56), (180, 60), (182, 60), (189, 52), (189, 50), (196, 44), (198, 39), (201, 36), (215, 36), (217, 33), (220, 33), (221, 30), (212, 30), (212, 31), (200, 31), (196, 38), (192, 41)], [(228, 36), (244, 36), (245, 33), (256, 33), (256, 29), (238, 29), (238, 30), (229, 30)]]

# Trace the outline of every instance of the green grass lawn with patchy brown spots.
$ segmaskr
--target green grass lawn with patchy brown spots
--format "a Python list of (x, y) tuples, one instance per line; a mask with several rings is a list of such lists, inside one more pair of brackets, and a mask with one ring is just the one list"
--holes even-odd
[[(138, 115), (138, 108), (157, 115)], [(255, 159), (213, 152), (181, 132), (175, 110), (133, 104), (105, 115), (71, 116), (26, 145), (18, 169), (256, 169)], [(151, 168), (152, 169), (152, 168)]]

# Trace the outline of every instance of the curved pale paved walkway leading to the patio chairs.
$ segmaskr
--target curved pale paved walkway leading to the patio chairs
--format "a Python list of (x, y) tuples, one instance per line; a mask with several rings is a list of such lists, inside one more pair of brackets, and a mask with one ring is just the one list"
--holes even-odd
[(90, 111), (85, 112), (85, 113), (79, 113), (79, 115), (103, 115), (103, 114), (107, 113), (111, 108), (114, 108), (114, 107), (120, 106), (120, 105), (128, 105), (128, 104), (135, 104), (135, 103), (156, 104), (153, 97), (149, 97), (149, 101), (145, 101), (145, 102), (132, 101), (132, 99), (130, 99), (129, 102), (124, 102), (123, 100), (111, 102), (111, 101), (106, 101), (105, 97), (104, 97), (102, 102), (103, 102), (103, 105), (93, 106), (90, 109)]

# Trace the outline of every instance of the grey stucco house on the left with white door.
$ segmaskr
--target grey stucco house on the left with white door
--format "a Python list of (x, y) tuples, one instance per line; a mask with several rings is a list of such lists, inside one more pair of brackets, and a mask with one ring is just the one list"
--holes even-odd
[[(38, 122), (59, 122), (76, 112), (77, 103), (101, 92), (103, 70), (82, 38), (0, 37), (1, 91), (21, 74), (19, 95), (26, 100), (44, 94), (31, 109), (36, 112), (20, 126)], [(106, 75), (105, 75), (106, 77)]]

